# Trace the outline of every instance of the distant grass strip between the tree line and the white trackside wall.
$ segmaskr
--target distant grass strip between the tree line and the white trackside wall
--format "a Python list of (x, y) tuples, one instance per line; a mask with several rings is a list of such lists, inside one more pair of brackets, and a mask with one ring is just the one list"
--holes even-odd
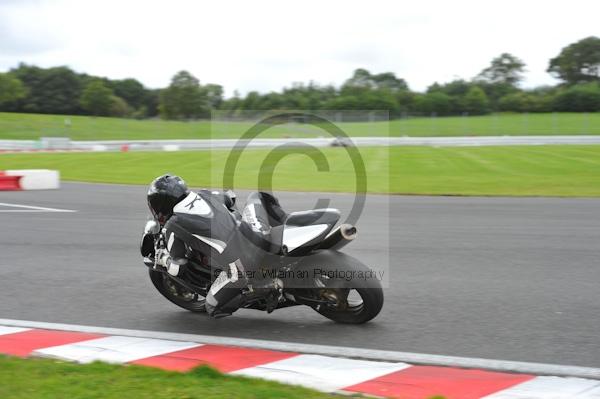
[[(69, 120), (70, 124), (65, 124)], [(494, 114), (409, 118), (374, 123), (339, 123), (350, 136), (493, 136), (600, 134), (600, 113)], [(73, 140), (238, 138), (250, 123), (177, 122), (88, 116), (0, 113), (0, 139), (70, 137)], [(319, 137), (319, 128), (290, 124), (261, 137)]]

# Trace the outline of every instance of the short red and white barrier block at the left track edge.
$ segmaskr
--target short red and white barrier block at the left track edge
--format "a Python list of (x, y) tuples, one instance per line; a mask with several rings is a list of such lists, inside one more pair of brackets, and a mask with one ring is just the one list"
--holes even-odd
[(22, 169), (0, 172), (0, 190), (53, 190), (60, 188), (57, 170)]

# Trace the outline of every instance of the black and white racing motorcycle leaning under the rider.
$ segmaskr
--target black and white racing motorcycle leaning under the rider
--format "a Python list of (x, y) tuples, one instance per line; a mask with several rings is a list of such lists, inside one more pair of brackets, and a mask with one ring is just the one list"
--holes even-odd
[[(198, 200), (199, 196), (193, 198), (194, 202)], [(233, 193), (224, 196), (223, 205), (228, 212), (221, 217), (234, 218), (242, 235), (253, 234), (243, 229), (246, 224)], [(248, 280), (240, 308), (271, 313), (305, 305), (330, 320), (347, 324), (366, 323), (377, 316), (383, 307), (381, 275), (340, 251), (356, 239), (358, 232), (349, 224), (335, 227), (339, 218), (340, 212), (332, 208), (292, 212), (281, 225), (272, 227), (274, 244), (261, 255), (261, 267), (251, 276), (240, 276)], [(207, 238), (203, 241), (210, 243)], [(211, 261), (212, 249), (186, 246), (187, 266), (183, 273), (174, 275), (157, 263), (155, 254), (164, 248), (164, 227), (156, 220), (148, 221), (140, 251), (153, 285), (175, 305), (206, 312), (205, 298), (223, 276), (223, 268), (216, 268)]]

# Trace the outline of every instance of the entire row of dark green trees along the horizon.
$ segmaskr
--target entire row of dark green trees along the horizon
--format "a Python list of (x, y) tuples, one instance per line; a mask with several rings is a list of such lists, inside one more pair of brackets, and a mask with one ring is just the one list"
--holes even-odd
[(547, 71), (561, 81), (555, 86), (521, 89), (525, 71), (521, 59), (503, 53), (470, 80), (436, 82), (422, 93), (392, 72), (357, 69), (340, 87), (295, 83), (279, 92), (224, 99), (221, 85), (201, 84), (187, 71), (175, 74), (164, 89), (148, 89), (132, 78), (19, 64), (0, 73), (0, 111), (181, 120), (207, 118), (212, 110), (232, 115), (272, 109), (388, 110), (391, 117), (600, 111), (600, 38), (572, 43), (549, 60)]

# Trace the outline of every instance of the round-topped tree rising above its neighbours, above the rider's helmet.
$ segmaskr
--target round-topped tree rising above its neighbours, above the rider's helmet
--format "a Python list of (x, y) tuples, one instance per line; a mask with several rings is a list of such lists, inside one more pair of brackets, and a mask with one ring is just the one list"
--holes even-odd
[(173, 76), (169, 87), (160, 93), (160, 114), (165, 119), (207, 117), (209, 105), (206, 92), (191, 73), (180, 71)]

